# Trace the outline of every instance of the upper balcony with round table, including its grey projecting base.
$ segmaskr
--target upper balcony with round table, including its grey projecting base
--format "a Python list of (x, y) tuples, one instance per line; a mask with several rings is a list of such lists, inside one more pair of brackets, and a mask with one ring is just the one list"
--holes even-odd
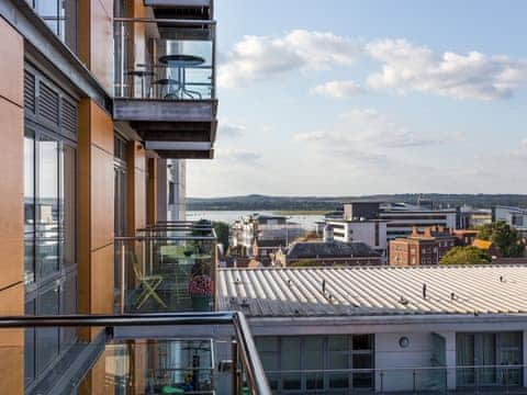
[(130, 125), (162, 158), (212, 158), (217, 124), (214, 21), (114, 21), (114, 120)]

